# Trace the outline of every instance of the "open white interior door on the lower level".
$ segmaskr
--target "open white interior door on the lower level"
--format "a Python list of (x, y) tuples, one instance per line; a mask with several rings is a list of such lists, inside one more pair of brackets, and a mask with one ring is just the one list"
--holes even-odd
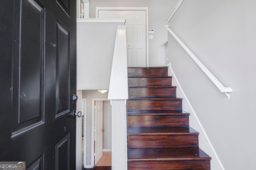
[(103, 154), (103, 101), (95, 101), (95, 165)]

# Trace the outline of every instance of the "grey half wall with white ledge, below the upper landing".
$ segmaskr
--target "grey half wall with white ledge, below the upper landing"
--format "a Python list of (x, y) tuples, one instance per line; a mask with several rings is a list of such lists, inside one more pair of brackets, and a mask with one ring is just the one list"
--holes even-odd
[(117, 25), (77, 23), (77, 89), (108, 89)]

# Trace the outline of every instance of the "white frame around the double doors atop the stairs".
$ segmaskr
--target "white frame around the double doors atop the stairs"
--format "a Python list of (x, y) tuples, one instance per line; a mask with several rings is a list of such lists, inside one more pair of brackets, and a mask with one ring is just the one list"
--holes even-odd
[(95, 16), (98, 18), (98, 11), (146, 11), (146, 66), (149, 66), (149, 52), (148, 52), (148, 7), (96, 7)]

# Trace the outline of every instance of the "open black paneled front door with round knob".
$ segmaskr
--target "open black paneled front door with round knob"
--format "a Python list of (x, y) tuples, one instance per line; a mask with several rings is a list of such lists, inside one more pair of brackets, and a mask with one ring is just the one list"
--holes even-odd
[(75, 169), (75, 0), (0, 0), (0, 90), (0, 161)]

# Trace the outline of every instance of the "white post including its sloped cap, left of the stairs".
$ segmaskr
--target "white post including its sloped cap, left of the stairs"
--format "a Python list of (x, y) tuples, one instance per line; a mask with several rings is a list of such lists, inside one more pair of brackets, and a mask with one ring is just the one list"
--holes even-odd
[(118, 25), (108, 88), (112, 106), (112, 170), (127, 170), (126, 100), (128, 99), (126, 25)]

